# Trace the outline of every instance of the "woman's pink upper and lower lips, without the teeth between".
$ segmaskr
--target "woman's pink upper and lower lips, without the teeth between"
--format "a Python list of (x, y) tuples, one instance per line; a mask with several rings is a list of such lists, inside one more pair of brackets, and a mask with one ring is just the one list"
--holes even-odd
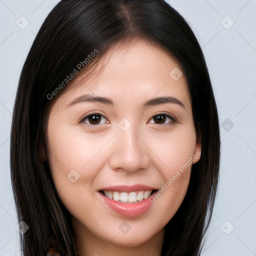
[[(155, 189), (156, 188), (150, 187), (148, 185), (135, 184), (135, 185), (114, 185), (114, 186), (104, 187), (100, 190), (131, 192), (131, 191), (155, 190)], [(107, 196), (103, 195), (101, 192), (99, 192), (99, 195), (103, 199), (104, 203), (107, 204), (111, 209), (115, 210), (119, 214), (122, 214), (128, 217), (136, 217), (136, 216), (142, 215), (149, 209), (152, 203), (149, 200), (149, 197), (147, 199), (144, 199), (136, 203), (125, 203), (125, 202), (115, 201), (114, 199), (110, 199)]]

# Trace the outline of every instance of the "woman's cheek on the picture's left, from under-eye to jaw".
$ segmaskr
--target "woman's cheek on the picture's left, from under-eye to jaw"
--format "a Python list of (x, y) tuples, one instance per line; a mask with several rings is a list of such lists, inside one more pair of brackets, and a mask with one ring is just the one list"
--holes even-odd
[(60, 200), (76, 216), (97, 208), (92, 192), (97, 173), (106, 162), (107, 154), (102, 149), (109, 135), (86, 134), (67, 125), (55, 126), (50, 131), (47, 157)]

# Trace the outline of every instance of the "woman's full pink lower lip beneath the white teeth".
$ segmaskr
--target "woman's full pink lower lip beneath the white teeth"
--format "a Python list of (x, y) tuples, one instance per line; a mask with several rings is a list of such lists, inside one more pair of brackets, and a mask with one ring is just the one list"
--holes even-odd
[(111, 209), (128, 217), (136, 217), (142, 215), (149, 209), (152, 203), (149, 201), (149, 197), (136, 203), (125, 203), (110, 199), (103, 195), (101, 192), (99, 192), (99, 194)]

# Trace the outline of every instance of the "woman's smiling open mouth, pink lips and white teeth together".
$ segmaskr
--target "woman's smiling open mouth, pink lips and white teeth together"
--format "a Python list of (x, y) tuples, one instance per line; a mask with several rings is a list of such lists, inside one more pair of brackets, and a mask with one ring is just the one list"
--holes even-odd
[(149, 210), (150, 196), (158, 189), (147, 185), (116, 185), (98, 190), (102, 203), (115, 212), (128, 216), (140, 216)]

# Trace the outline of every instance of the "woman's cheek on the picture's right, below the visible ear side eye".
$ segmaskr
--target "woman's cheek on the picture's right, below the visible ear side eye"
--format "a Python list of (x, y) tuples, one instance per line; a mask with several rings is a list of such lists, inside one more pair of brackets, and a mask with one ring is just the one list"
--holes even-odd
[(166, 213), (170, 219), (182, 203), (190, 179), (191, 159), (196, 143), (193, 123), (179, 124), (178, 129), (173, 129), (166, 135), (155, 136), (150, 141), (150, 148), (160, 159), (158, 170), (164, 180), (151, 201), (162, 209), (162, 219), (166, 219)]

